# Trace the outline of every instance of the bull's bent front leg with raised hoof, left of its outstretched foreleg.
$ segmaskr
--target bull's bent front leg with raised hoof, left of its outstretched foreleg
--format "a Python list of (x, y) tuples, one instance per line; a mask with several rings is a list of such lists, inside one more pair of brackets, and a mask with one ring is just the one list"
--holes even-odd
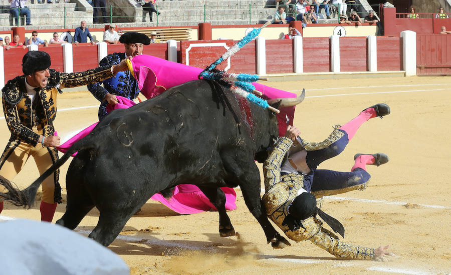
[(198, 187), (213, 203), (219, 213), (219, 235), (221, 237), (235, 236), (234, 226), (225, 211), (225, 194), (221, 188)]

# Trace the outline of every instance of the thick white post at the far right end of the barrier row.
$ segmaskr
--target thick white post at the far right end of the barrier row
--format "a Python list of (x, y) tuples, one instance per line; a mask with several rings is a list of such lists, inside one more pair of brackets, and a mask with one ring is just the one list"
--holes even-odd
[(401, 31), (402, 38), (402, 68), (405, 76), (416, 75), (416, 32)]

